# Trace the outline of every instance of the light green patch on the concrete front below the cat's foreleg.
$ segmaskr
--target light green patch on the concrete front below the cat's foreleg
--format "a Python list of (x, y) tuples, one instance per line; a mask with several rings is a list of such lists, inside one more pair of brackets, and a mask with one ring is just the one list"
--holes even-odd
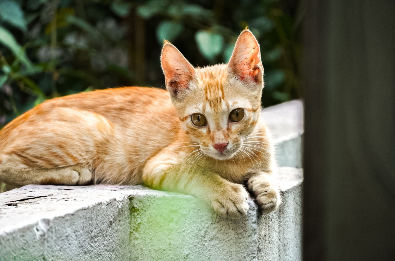
[(196, 253), (205, 243), (190, 242), (210, 233), (204, 220), (212, 210), (205, 203), (175, 193), (145, 195), (130, 198), (129, 211), (130, 260), (202, 260)]

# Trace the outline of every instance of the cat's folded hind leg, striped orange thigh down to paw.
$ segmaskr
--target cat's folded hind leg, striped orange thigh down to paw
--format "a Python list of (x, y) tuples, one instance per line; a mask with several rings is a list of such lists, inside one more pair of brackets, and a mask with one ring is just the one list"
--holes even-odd
[(72, 108), (32, 113), (0, 133), (0, 179), (19, 186), (90, 183), (89, 167), (99, 161), (98, 149), (106, 153), (112, 123), (102, 115)]

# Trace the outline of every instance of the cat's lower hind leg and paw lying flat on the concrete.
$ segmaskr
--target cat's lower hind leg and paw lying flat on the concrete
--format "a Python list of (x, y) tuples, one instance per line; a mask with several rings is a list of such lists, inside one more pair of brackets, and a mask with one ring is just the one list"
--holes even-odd
[(92, 183), (88, 168), (73, 165), (61, 168), (32, 168), (25, 166), (16, 157), (2, 157), (1, 179), (11, 185), (87, 185)]

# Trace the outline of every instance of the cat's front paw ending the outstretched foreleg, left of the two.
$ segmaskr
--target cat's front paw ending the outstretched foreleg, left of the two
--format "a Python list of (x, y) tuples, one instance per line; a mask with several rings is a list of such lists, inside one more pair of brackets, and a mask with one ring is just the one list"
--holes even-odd
[(211, 205), (224, 218), (241, 218), (248, 211), (248, 192), (242, 185), (230, 183), (222, 188)]

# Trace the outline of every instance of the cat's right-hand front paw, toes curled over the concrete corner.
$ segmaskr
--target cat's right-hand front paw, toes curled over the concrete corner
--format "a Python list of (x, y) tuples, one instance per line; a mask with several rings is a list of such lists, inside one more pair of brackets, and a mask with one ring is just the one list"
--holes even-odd
[(281, 196), (278, 187), (267, 181), (263, 181), (258, 184), (256, 182), (254, 183), (255, 184), (252, 186), (250, 185), (249, 187), (254, 193), (258, 206), (262, 212), (270, 213), (277, 209), (281, 204)]

